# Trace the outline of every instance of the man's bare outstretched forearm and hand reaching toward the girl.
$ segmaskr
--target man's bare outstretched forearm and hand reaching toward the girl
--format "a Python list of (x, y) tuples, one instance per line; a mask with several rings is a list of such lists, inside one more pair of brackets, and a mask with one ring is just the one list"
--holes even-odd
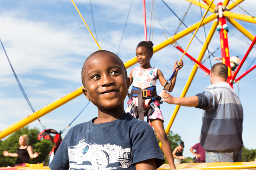
[(167, 93), (165, 90), (161, 91), (159, 94), (162, 97), (162, 101), (165, 101), (169, 104), (177, 104), (181, 106), (188, 106), (188, 107), (196, 107), (198, 105), (198, 97), (173, 97), (171, 94)]

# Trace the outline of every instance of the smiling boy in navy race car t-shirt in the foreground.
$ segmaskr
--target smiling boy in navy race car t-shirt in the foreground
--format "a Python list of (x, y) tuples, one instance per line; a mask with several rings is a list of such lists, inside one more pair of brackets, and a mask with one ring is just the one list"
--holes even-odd
[(130, 79), (109, 51), (96, 51), (82, 68), (83, 93), (98, 117), (75, 125), (64, 137), (49, 167), (67, 169), (155, 170), (164, 156), (151, 126), (124, 111)]

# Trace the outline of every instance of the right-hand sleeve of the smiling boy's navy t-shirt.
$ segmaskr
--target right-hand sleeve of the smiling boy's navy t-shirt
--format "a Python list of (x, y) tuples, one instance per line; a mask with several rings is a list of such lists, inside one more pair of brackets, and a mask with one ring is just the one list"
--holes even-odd
[(132, 154), (134, 164), (153, 158), (156, 168), (165, 163), (155, 133), (147, 122), (141, 122), (132, 135)]

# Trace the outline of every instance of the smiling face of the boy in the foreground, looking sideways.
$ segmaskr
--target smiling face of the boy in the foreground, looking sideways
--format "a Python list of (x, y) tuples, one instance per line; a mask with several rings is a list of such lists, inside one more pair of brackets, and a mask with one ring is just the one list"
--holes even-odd
[(110, 53), (96, 54), (85, 63), (85, 87), (82, 90), (99, 109), (124, 106), (130, 79), (120, 64), (118, 58)]

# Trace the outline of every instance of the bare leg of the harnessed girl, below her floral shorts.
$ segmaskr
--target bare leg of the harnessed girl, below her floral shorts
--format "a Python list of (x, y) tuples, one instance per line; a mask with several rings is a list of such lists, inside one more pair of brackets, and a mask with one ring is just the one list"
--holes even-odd
[(175, 169), (176, 167), (174, 165), (174, 157), (172, 156), (172, 148), (165, 133), (163, 121), (161, 119), (150, 119), (150, 122), (155, 129), (157, 138), (162, 143), (162, 149), (170, 168)]

